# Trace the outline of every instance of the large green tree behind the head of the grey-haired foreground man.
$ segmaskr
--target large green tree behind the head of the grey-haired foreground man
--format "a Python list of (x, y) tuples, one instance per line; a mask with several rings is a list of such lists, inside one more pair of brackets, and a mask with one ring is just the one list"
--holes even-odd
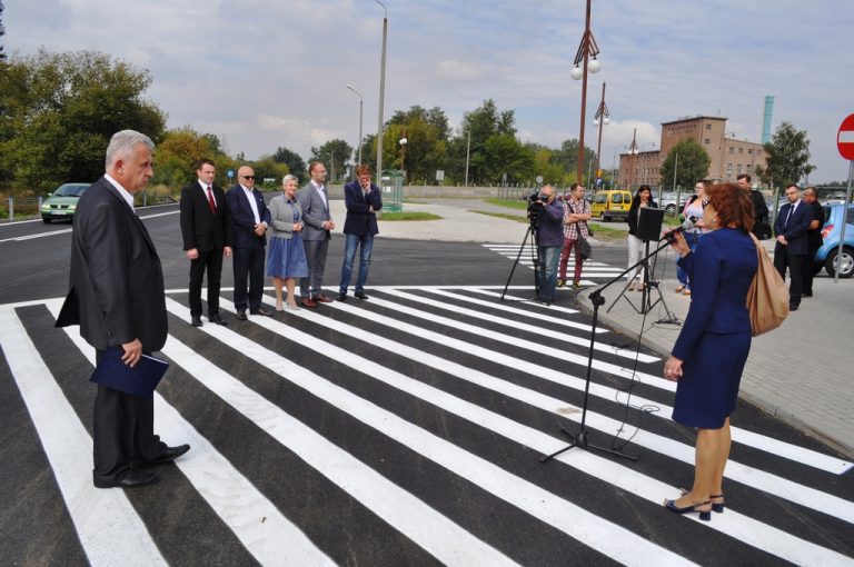
[(96, 51), (40, 50), (0, 64), (0, 169), (8, 185), (46, 191), (93, 181), (119, 130), (159, 141), (166, 116), (142, 97), (150, 84), (147, 70)]

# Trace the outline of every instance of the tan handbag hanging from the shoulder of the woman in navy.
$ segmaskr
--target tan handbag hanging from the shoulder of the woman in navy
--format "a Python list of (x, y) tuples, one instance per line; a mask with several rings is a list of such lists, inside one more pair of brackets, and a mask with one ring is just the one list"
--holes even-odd
[(756, 245), (759, 263), (747, 290), (747, 314), (751, 316), (753, 336), (776, 329), (788, 316), (788, 289), (774, 268), (762, 242), (751, 235)]

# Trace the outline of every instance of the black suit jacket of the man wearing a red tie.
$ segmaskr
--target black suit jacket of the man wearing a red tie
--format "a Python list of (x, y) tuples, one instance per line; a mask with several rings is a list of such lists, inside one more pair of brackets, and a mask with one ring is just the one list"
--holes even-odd
[(210, 212), (207, 191), (199, 181), (181, 189), (181, 236), (183, 249), (197, 248), (200, 252), (222, 250), (231, 246), (231, 217), (228, 213), (226, 192), (212, 186), (217, 212)]

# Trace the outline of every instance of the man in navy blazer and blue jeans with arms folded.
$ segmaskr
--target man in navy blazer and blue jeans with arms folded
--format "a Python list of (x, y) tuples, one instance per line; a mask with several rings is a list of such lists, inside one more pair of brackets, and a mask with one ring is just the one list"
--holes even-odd
[(341, 266), (341, 285), (338, 288), (338, 301), (347, 300), (347, 286), (352, 276), (352, 260), (356, 258), (356, 247), (361, 247), (359, 257), (359, 275), (356, 278), (354, 295), (367, 299), (365, 282), (370, 269), (370, 252), (374, 249), (374, 237), (377, 228), (377, 211), (383, 208), (383, 193), (379, 187), (370, 182), (370, 168), (361, 165), (356, 168), (356, 179), (344, 186), (344, 203), (347, 207), (347, 218), (344, 221), (344, 266)]

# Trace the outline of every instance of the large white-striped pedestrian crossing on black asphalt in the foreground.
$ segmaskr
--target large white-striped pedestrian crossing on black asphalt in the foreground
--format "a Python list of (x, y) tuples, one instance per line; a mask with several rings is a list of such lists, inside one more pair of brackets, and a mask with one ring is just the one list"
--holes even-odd
[(128, 493), (91, 485), (95, 351), (53, 328), (61, 300), (0, 306), (7, 404), (43, 452), (21, 476), (52, 477), (68, 514), (43, 529), (92, 565), (854, 565), (852, 464), (746, 405), (726, 511), (664, 510), (692, 483), (694, 434), (669, 419), (662, 357), (607, 329), (586, 424), (639, 461), (542, 465), (578, 428), (592, 329), (502, 290), (379, 287), (248, 322), (224, 297), (229, 326), (201, 328), (170, 290), (156, 428), (192, 450)]

